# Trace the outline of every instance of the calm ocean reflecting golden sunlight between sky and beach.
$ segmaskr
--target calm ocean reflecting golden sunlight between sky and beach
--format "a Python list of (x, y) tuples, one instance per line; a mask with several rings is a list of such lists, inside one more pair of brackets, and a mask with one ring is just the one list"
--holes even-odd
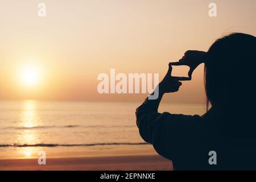
[[(147, 151), (130, 102), (1, 101), (0, 158), (130, 154)], [(204, 114), (203, 104), (161, 104), (159, 111)], [(133, 148), (133, 150), (131, 150)], [(130, 149), (130, 150), (129, 150)]]

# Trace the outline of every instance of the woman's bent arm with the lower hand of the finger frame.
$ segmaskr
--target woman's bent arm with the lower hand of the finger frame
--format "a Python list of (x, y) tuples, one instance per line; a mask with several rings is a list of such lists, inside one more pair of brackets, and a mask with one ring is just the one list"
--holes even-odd
[(155, 150), (168, 159), (171, 158), (171, 150), (166, 143), (170, 143), (172, 134), (174, 134), (170, 132), (170, 128), (175, 122), (176, 116), (170, 113), (158, 113), (158, 107), (164, 93), (177, 92), (181, 86), (180, 80), (189, 80), (184, 77), (172, 77), (171, 71), (170, 65), (166, 76), (154, 91), (159, 93), (158, 98), (156, 100), (147, 98), (136, 110), (137, 126), (141, 137), (146, 142), (153, 144)]

